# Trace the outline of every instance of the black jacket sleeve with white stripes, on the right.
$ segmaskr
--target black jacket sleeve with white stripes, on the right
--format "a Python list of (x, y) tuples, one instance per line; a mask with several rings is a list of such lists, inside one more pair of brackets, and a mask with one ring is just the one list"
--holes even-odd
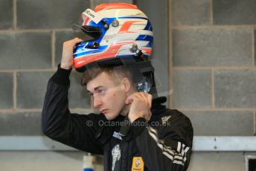
[(144, 118), (132, 123), (136, 144), (149, 170), (183, 171), (188, 168), (193, 127), (184, 114), (176, 110), (172, 113), (150, 126), (144, 126), (147, 125)]

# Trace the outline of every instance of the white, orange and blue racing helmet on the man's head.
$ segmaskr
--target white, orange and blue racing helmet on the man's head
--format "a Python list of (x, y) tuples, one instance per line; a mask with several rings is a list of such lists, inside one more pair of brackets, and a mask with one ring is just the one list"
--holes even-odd
[(115, 59), (144, 61), (152, 54), (152, 25), (134, 4), (107, 3), (86, 9), (72, 28), (83, 39), (74, 48), (77, 71), (95, 62), (114, 63)]

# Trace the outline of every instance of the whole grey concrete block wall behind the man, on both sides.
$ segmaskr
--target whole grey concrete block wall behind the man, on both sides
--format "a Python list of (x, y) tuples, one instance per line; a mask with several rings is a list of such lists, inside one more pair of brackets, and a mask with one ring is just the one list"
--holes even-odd
[[(86, 7), (111, 1), (0, 1), (0, 136), (42, 135), (46, 84), (60, 62), (63, 41), (73, 37), (71, 21)], [(170, 3), (173, 108), (191, 118), (195, 135), (255, 135), (255, 1)], [(72, 111), (92, 111), (78, 84), (80, 74), (72, 74)], [(72, 97), (74, 92), (80, 94)], [(16, 170), (13, 165), (22, 164), (24, 170), (45, 170), (42, 164), (51, 161), (48, 170), (80, 170), (83, 153), (67, 153), (0, 152), (0, 168)], [(247, 154), (255, 155), (194, 152), (189, 170), (244, 170)]]

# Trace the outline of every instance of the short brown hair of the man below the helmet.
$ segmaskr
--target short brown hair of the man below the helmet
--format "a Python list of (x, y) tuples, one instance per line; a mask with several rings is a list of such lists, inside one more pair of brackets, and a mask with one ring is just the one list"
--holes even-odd
[(132, 78), (132, 74), (129, 71), (128, 68), (124, 66), (97, 66), (92, 68), (87, 68), (86, 71), (83, 73), (83, 78), (81, 80), (82, 85), (86, 86), (87, 83), (89, 83), (90, 80), (95, 79), (98, 75), (105, 72), (106, 74), (109, 74), (110, 77), (114, 81), (121, 80), (124, 77), (127, 77), (129, 81), (134, 85), (134, 80)]

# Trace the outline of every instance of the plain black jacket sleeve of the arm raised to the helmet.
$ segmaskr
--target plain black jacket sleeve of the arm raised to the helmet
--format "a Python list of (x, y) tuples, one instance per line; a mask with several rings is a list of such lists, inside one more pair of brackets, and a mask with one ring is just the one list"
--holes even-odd
[(103, 154), (95, 138), (98, 114), (71, 114), (68, 109), (70, 71), (58, 68), (48, 81), (42, 109), (42, 131), (49, 138), (77, 149)]

